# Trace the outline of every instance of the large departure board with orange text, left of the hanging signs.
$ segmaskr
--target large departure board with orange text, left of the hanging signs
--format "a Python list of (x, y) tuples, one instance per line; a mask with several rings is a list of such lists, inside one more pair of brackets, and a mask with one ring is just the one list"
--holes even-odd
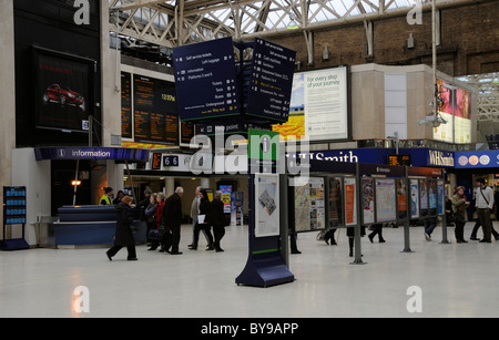
[(134, 75), (133, 99), (135, 142), (177, 145), (179, 115), (175, 85)]

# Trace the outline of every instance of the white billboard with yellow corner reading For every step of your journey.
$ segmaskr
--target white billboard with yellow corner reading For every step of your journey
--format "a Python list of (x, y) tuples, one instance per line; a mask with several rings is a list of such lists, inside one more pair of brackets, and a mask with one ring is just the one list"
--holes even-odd
[(332, 141), (348, 138), (348, 69), (297, 73), (293, 81), (289, 120), (273, 130), (286, 138)]

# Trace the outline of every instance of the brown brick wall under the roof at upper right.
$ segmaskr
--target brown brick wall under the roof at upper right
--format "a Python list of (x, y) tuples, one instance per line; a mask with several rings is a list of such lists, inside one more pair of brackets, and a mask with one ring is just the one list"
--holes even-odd
[[(438, 70), (454, 76), (499, 71), (499, 0), (481, 1), (440, 10), (441, 44)], [(413, 33), (415, 47), (407, 48)], [(303, 70), (337, 64), (410, 65), (431, 64), (431, 12), (422, 13), (422, 24), (410, 25), (406, 16), (374, 21), (374, 55), (367, 55), (364, 23), (314, 32), (314, 65), (307, 66), (303, 33), (271, 39), (297, 51)], [(323, 61), (328, 45), (329, 60)]]

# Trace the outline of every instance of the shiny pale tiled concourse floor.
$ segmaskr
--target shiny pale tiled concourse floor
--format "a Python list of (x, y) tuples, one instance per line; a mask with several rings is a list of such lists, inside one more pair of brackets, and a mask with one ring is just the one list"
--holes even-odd
[[(466, 228), (469, 237), (472, 224)], [(481, 233), (481, 231), (480, 231)], [(479, 233), (479, 235), (480, 235)], [(182, 256), (138, 247), (110, 262), (105, 249), (30, 249), (0, 253), (0, 317), (499, 317), (499, 244), (440, 245), (422, 228), (384, 229), (386, 244), (363, 238), (366, 265), (349, 265), (345, 230), (327, 246), (316, 233), (301, 234), (302, 255), (291, 256), (292, 284), (271, 288), (236, 286), (247, 257), (247, 228), (227, 228), (225, 253), (190, 251), (183, 227)], [(338, 233), (336, 235), (338, 237)], [(90, 312), (72, 310), (73, 290), (90, 291)], [(422, 290), (422, 312), (409, 313), (407, 288)]]

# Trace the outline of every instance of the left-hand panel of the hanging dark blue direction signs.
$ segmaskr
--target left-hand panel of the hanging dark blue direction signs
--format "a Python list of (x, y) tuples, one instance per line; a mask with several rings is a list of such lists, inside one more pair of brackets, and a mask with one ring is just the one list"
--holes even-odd
[(241, 113), (232, 38), (175, 48), (173, 61), (182, 121)]

